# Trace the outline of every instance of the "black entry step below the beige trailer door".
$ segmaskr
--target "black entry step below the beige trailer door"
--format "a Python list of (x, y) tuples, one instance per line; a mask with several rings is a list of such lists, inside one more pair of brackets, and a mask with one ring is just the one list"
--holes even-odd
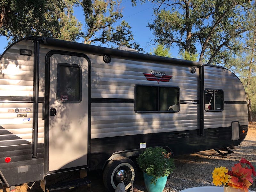
[(91, 181), (88, 180), (87, 178), (80, 178), (76, 180), (70, 180), (70, 181), (65, 181), (65, 182), (60, 182), (56, 183), (50, 186), (46, 186), (48, 191), (57, 191), (57, 190), (63, 190), (63, 189), (72, 189), (76, 188), (81, 185), (87, 185), (90, 184)]

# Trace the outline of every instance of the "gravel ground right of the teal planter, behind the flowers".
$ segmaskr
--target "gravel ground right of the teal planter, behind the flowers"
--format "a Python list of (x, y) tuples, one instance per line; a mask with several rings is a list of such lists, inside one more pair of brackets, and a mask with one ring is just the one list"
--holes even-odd
[[(175, 158), (176, 170), (167, 180), (164, 192), (178, 192), (182, 189), (199, 186), (214, 186), (212, 171), (215, 167), (225, 166), (231, 169), (244, 157), (256, 167), (256, 123), (249, 124), (245, 140), (229, 154), (228, 158), (212, 156), (214, 150), (208, 150)], [(256, 180), (256, 178), (254, 178)], [(256, 191), (256, 181), (250, 190)]]

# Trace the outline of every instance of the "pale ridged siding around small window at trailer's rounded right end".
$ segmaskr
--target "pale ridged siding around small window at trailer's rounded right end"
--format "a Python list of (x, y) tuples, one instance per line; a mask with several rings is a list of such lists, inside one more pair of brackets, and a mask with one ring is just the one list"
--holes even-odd
[[(243, 84), (225, 68), (204, 66), (204, 89), (223, 90), (223, 111), (204, 111), (204, 128), (230, 127), (231, 122), (248, 125)], [(244, 102), (244, 104), (236, 104)]]

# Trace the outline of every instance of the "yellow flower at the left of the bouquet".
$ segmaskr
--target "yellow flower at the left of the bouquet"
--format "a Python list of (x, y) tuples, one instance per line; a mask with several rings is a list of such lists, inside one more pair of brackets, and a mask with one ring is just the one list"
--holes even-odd
[(228, 169), (226, 167), (215, 167), (212, 172), (212, 179), (215, 186), (226, 185), (230, 179), (230, 175), (227, 175)]

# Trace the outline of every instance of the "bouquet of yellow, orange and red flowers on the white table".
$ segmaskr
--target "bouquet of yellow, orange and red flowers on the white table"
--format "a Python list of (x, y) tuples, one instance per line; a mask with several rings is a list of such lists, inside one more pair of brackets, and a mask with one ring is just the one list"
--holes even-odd
[(252, 175), (256, 176), (253, 165), (245, 158), (241, 158), (240, 162), (231, 169), (231, 171), (228, 171), (226, 167), (215, 167), (212, 172), (214, 185), (221, 186), (223, 184), (225, 187), (230, 186), (234, 189), (248, 192), (253, 183)]

